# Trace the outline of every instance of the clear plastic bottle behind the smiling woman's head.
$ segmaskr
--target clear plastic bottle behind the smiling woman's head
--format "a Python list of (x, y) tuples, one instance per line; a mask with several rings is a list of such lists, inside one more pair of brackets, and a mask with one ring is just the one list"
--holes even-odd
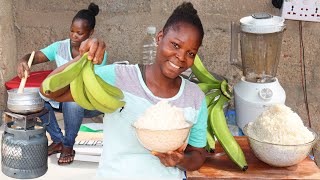
[(142, 41), (142, 64), (152, 64), (156, 57), (157, 42), (155, 38), (156, 27), (149, 26), (147, 35)]

